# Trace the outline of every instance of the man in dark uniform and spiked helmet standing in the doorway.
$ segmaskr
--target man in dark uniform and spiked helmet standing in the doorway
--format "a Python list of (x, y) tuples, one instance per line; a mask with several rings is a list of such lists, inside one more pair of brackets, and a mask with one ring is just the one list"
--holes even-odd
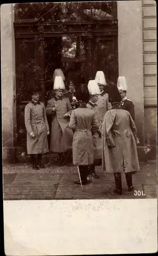
[(73, 84), (73, 81), (70, 80), (69, 82), (69, 91), (65, 93), (65, 97), (69, 98), (69, 101), (71, 103), (72, 109), (77, 109), (79, 106), (79, 102), (76, 99), (76, 90), (75, 86)]

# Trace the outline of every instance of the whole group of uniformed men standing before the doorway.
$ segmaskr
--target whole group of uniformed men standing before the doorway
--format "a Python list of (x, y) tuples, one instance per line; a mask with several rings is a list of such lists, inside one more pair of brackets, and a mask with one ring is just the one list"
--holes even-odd
[(131, 174), (139, 170), (138, 138), (134, 104), (126, 97), (125, 77), (118, 77), (115, 86), (112, 82), (107, 84), (104, 73), (97, 71), (87, 87), (83, 81), (76, 90), (70, 80), (66, 93), (61, 69), (55, 70), (52, 80), (55, 95), (48, 100), (46, 108), (39, 101), (37, 90), (32, 91), (32, 100), (25, 106), (27, 150), (33, 168), (44, 167), (41, 161), (44, 153), (58, 153), (62, 165), (72, 152), (73, 164), (77, 165), (80, 176), (76, 184), (88, 184), (90, 176), (98, 179), (95, 164), (100, 160), (103, 170), (114, 173), (115, 193), (122, 195), (122, 172), (125, 172), (128, 190), (133, 190)]

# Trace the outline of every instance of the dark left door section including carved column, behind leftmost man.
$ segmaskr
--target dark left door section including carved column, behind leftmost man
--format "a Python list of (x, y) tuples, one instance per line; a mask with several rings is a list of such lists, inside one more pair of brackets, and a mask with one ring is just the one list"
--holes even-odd
[(41, 39), (15, 40), (17, 144), (26, 146), (27, 131), (24, 125), (24, 108), (31, 100), (30, 90), (38, 87), (44, 101), (44, 59)]

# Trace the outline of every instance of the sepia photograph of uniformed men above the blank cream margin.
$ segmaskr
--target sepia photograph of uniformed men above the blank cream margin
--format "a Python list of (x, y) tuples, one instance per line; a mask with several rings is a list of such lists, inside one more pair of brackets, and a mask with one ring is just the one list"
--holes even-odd
[(155, 1), (4, 4), (1, 69), (4, 218), (157, 200)]

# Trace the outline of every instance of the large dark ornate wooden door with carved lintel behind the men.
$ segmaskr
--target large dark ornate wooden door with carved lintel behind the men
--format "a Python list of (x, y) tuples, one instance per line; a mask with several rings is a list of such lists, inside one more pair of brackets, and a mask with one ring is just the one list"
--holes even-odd
[[(77, 77), (83, 75), (88, 83), (97, 70), (102, 70), (108, 80), (116, 83), (117, 3), (16, 4), (14, 31), (17, 145), (26, 147), (24, 108), (31, 99), (29, 90), (38, 84), (40, 99), (45, 101), (45, 91), (52, 88), (51, 77), (57, 59), (59, 61), (61, 58), (66, 81), (68, 73), (71, 73), (69, 71)], [(65, 46), (68, 46), (65, 52), (62, 46), (64, 40)], [(71, 56), (68, 56), (72, 45), (75, 45), (75, 49), (71, 49)], [(59, 49), (56, 49), (57, 46)]]

